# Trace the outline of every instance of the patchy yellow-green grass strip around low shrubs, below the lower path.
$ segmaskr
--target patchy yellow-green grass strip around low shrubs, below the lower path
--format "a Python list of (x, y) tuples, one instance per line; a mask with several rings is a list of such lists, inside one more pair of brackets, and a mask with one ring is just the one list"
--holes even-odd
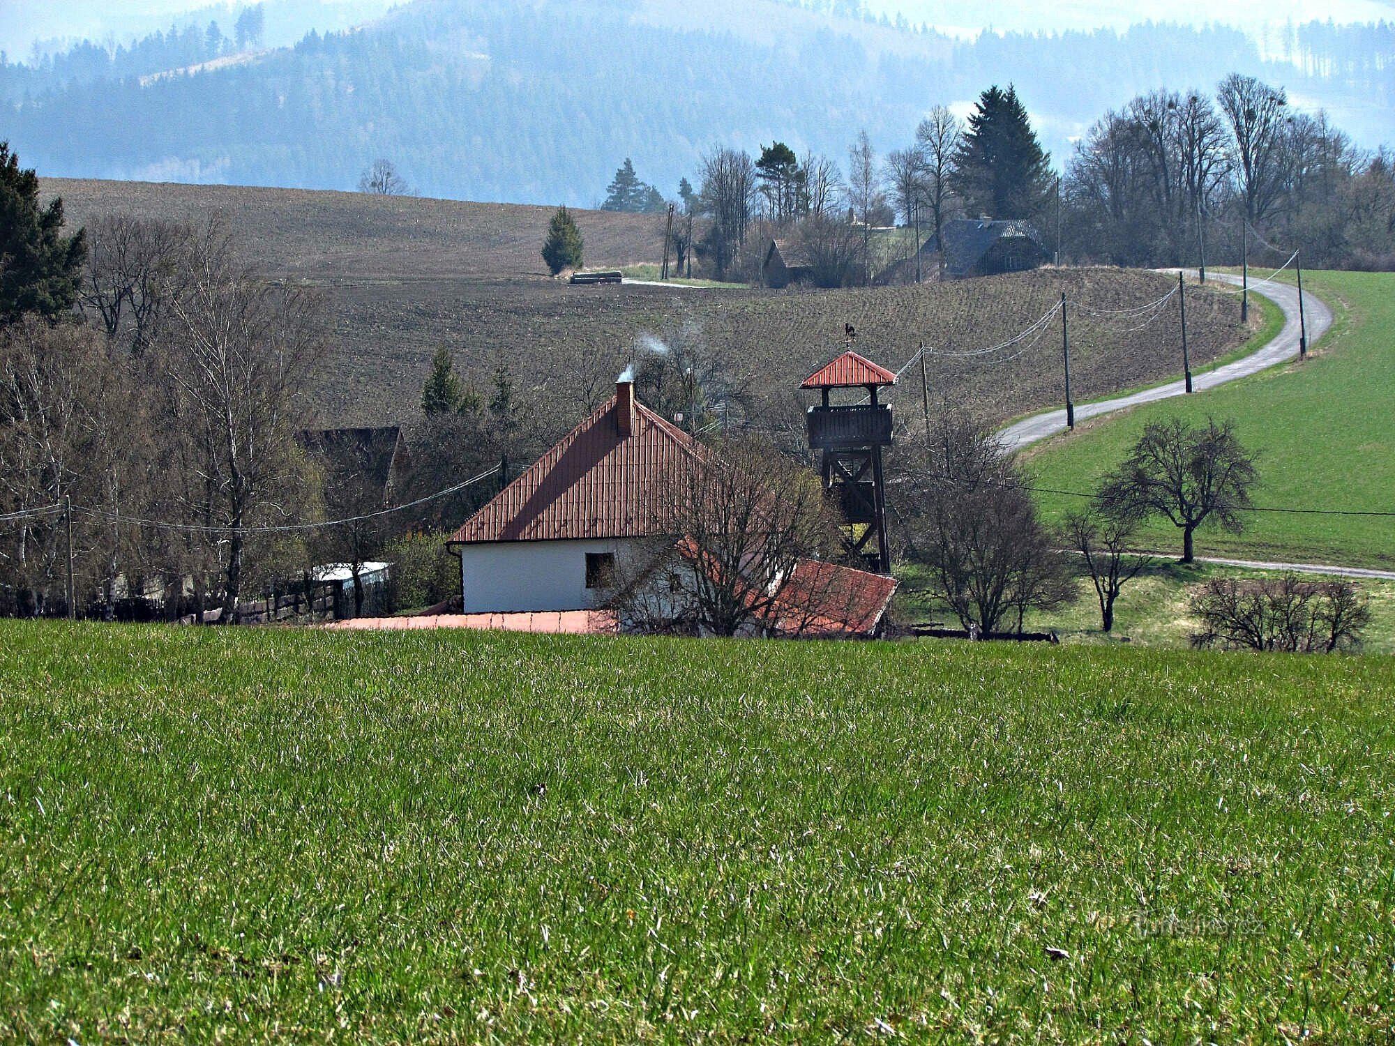
[[(919, 590), (925, 577), (918, 568), (898, 568), (903, 590), (898, 593), (897, 612), (907, 621), (939, 621), (957, 628), (953, 615), (926, 600)], [(1136, 643), (1148, 647), (1187, 650), (1191, 633), (1200, 625), (1189, 611), (1189, 602), (1211, 577), (1272, 577), (1272, 570), (1250, 570), (1218, 563), (1184, 566), (1176, 559), (1158, 558), (1124, 586), (1115, 604), (1115, 628), (1099, 630), (1099, 602), (1087, 579), (1080, 580), (1080, 598), (1050, 614), (1034, 612), (1025, 618), (1031, 632), (1056, 632), (1063, 643), (1120, 644)], [(1331, 580), (1304, 575), (1314, 582)], [(1371, 654), (1395, 654), (1395, 582), (1349, 579), (1368, 600), (1371, 625), (1366, 632), (1363, 650)]]

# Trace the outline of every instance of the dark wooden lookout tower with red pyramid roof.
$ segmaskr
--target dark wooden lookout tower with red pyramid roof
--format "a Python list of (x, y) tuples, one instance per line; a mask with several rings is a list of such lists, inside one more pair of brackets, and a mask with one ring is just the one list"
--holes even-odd
[[(804, 379), (801, 389), (819, 389), (823, 402), (809, 407), (809, 448), (823, 452), (823, 490), (847, 520), (850, 559), (862, 559), (875, 573), (891, 572), (886, 541), (886, 485), (882, 448), (891, 445), (891, 407), (877, 403), (877, 389), (896, 385), (896, 375), (848, 350)], [(836, 404), (833, 389), (859, 389), (866, 402)]]

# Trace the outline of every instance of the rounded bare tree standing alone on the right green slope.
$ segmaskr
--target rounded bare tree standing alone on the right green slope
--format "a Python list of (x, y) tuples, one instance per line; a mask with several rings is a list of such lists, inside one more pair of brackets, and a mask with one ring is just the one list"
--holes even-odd
[(1165, 516), (1182, 530), (1182, 562), (1193, 562), (1193, 534), (1215, 520), (1233, 534), (1244, 529), (1250, 491), (1258, 480), (1254, 455), (1240, 445), (1235, 423), (1207, 418), (1193, 428), (1180, 417), (1149, 421), (1129, 457), (1101, 488), (1113, 515)]

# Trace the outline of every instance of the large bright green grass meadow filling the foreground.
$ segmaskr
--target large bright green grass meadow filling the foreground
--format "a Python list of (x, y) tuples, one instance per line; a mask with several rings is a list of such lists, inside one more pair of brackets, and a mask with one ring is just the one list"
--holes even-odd
[(0, 625), (0, 1040), (1373, 1042), (1395, 660)]

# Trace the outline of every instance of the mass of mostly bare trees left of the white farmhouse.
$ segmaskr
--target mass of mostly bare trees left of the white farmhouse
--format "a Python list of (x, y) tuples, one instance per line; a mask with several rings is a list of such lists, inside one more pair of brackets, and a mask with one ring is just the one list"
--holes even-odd
[(308, 596), (331, 562), (352, 565), (361, 604), (370, 556), (494, 488), (382, 510), (519, 441), (499, 370), (487, 400), (456, 389), (448, 409), (423, 404), (389, 498), (361, 456), (307, 439), (322, 428), (308, 400), (328, 350), (322, 298), (251, 269), (222, 216), (117, 212), (67, 232), (61, 199), (40, 206), (8, 144), (0, 213), (0, 612), (112, 616), (149, 598), (230, 621), (268, 589)]

